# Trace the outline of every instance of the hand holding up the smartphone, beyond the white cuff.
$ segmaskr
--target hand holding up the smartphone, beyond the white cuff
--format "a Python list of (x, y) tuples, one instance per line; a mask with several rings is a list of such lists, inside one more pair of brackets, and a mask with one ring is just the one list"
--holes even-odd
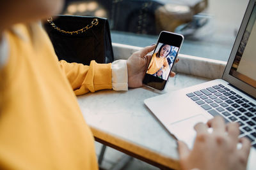
[[(135, 88), (142, 86), (144, 74), (152, 57), (152, 54), (149, 55), (148, 53), (152, 52), (154, 48), (156, 48), (156, 45), (146, 46), (138, 52), (134, 52), (129, 57), (127, 60), (128, 87)], [(175, 76), (175, 73), (172, 72), (170, 76)]]

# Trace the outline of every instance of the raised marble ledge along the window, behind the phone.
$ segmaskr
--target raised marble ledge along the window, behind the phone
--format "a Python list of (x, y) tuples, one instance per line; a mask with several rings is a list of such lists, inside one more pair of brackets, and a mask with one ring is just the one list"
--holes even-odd
[[(113, 43), (113, 50), (116, 59), (128, 59), (133, 52), (140, 50), (140, 47), (120, 45)], [(202, 76), (205, 78), (221, 78), (227, 62), (220, 60), (205, 59), (191, 55), (179, 54), (180, 61), (175, 64), (173, 71), (179, 73), (191, 74), (194, 76)]]

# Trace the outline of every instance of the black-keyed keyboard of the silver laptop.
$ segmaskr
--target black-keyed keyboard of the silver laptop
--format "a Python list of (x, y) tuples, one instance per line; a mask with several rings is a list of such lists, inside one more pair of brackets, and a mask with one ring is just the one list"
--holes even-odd
[(191, 92), (186, 96), (213, 117), (221, 115), (225, 122), (238, 122), (241, 132), (239, 137), (247, 137), (256, 148), (256, 103), (244, 99), (221, 84)]

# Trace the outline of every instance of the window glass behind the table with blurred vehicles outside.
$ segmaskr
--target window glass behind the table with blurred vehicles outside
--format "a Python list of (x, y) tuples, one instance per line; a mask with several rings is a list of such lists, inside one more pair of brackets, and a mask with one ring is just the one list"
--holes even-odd
[(147, 46), (183, 34), (180, 53), (227, 61), (248, 0), (68, 0), (67, 15), (108, 18), (113, 43)]

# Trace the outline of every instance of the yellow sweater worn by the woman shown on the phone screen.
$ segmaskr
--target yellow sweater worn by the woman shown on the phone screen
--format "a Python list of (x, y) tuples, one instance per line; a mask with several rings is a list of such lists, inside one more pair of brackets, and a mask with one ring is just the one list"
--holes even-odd
[(166, 57), (156, 57), (156, 53), (154, 53), (148, 66), (147, 73), (155, 74), (157, 71), (159, 71), (159, 69), (161, 69), (161, 67), (163, 67), (163, 69), (166, 70), (169, 67), (168, 61)]

